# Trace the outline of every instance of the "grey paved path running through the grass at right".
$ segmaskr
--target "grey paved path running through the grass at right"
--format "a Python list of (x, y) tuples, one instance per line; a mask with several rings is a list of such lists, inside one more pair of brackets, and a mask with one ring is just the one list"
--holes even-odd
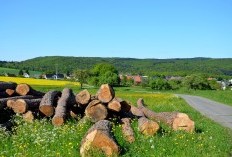
[(232, 107), (199, 96), (176, 94), (203, 115), (232, 129)]

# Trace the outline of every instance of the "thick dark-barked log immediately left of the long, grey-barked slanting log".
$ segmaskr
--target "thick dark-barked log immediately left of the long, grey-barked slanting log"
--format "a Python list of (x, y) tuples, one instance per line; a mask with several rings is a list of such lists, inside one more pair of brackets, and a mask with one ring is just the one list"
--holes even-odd
[(46, 116), (46, 117), (51, 117), (54, 114), (54, 106), (57, 106), (57, 101), (58, 101), (58, 97), (61, 96), (61, 92), (60, 91), (49, 91), (47, 92), (41, 102), (40, 102), (40, 106), (39, 106), (39, 110), (40, 112)]

